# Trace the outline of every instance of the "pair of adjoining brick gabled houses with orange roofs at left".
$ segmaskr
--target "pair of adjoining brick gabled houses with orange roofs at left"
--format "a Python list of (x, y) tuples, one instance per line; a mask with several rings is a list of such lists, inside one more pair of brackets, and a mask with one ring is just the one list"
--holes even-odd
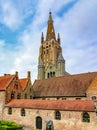
[[(12, 99), (23, 99), (33, 97), (30, 72), (28, 77), (19, 79), (18, 72), (14, 75), (4, 74), (0, 76), (0, 92), (4, 94), (4, 102), (8, 103)], [(25, 96), (27, 93), (27, 97)]]

